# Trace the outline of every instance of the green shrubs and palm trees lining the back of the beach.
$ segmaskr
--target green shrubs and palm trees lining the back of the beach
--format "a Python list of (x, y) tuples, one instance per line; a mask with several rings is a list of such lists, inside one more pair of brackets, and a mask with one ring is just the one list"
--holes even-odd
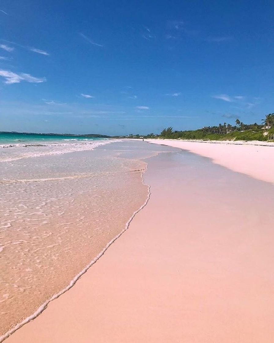
[(244, 124), (236, 119), (235, 125), (227, 123), (218, 126), (204, 126), (197, 130), (176, 131), (172, 127), (163, 129), (160, 134), (145, 135), (129, 134), (119, 138), (161, 138), (161, 139), (197, 139), (197, 140), (235, 140), (235, 141), (273, 141), (274, 140), (274, 113), (262, 119), (262, 124)]

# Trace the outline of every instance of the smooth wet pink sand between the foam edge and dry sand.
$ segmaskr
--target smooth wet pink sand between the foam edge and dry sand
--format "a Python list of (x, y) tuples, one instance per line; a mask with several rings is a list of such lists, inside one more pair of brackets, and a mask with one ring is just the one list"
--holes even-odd
[(188, 152), (148, 166), (129, 229), (7, 343), (273, 342), (273, 186)]

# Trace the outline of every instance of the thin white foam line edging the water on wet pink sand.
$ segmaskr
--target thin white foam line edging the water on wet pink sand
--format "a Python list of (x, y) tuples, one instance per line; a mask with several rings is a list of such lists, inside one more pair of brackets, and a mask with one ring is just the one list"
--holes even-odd
[[(147, 163), (146, 163), (147, 165)], [(45, 303), (43, 303), (32, 315), (30, 315), (29, 317), (25, 318), (24, 320), (22, 320), (20, 323), (16, 324), (12, 329), (10, 329), (8, 332), (4, 333), (2, 336), (0, 336), (0, 343), (3, 342), (5, 339), (7, 339), (11, 334), (13, 334), (15, 331), (17, 331), (18, 329), (22, 328), (23, 325), (27, 324), (28, 322), (30, 322), (31, 320), (35, 319), (36, 317), (38, 317), (48, 306), (48, 304), (52, 301), (57, 299), (58, 297), (60, 297), (60, 295), (64, 294), (66, 291), (68, 291), (71, 287), (73, 287), (75, 285), (75, 283), (77, 282), (77, 280), (80, 279), (80, 277), (86, 273), (86, 271), (92, 266), (92, 264), (94, 264), (95, 262), (97, 262), (99, 260), (99, 258), (101, 256), (104, 255), (105, 251), (115, 242), (115, 240), (117, 238), (119, 238), (129, 227), (129, 224), (132, 222), (133, 218), (135, 217), (135, 215), (140, 212), (148, 203), (149, 199), (150, 199), (150, 185), (145, 184), (145, 180), (144, 180), (144, 173), (147, 171), (148, 169), (148, 165), (146, 166), (146, 169), (141, 173), (141, 179), (142, 179), (142, 184), (145, 186), (148, 186), (148, 196), (146, 201), (144, 202), (144, 204), (142, 204), (142, 206), (133, 213), (133, 215), (129, 218), (128, 222), (125, 225), (125, 228), (118, 234), (116, 235), (114, 238), (112, 238), (111, 241), (109, 241), (109, 243), (103, 248), (103, 250), (92, 260), (89, 262), (89, 264), (82, 270), (80, 271), (76, 276), (74, 276), (74, 278), (71, 280), (71, 282), (64, 288), (62, 289), (62, 291), (54, 294), (51, 298), (49, 298), (48, 300), (45, 301)]]

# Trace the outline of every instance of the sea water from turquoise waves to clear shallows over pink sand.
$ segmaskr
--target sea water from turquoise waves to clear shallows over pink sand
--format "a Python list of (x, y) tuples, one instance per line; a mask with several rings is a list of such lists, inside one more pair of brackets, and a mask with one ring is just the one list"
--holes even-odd
[(149, 196), (144, 158), (171, 150), (43, 138), (2, 138), (0, 336), (73, 284), (127, 227)]

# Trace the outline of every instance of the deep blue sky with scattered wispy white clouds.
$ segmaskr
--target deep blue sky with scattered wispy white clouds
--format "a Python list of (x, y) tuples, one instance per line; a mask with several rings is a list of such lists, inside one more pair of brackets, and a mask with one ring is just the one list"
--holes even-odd
[(157, 133), (274, 111), (273, 1), (0, 3), (0, 130)]

